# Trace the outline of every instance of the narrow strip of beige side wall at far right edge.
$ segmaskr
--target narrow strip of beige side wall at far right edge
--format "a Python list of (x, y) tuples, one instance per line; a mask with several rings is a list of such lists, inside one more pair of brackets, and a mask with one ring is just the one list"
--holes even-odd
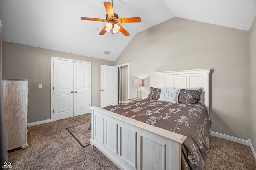
[(256, 150), (256, 17), (249, 30), (251, 128), (250, 138)]

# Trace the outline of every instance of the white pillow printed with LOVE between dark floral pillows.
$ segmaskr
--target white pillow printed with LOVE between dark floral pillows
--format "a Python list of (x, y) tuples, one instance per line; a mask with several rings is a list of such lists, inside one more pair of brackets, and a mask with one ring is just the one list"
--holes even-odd
[(170, 103), (178, 103), (178, 94), (180, 93), (180, 89), (167, 89), (162, 88), (161, 94), (159, 97), (159, 101), (166, 101)]

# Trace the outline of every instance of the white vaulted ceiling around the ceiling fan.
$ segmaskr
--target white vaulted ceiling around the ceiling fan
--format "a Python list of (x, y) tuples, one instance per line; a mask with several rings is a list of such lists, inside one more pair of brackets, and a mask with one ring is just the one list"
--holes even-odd
[(99, 35), (106, 22), (80, 19), (105, 18), (100, 0), (0, 0), (3, 40), (115, 61), (136, 33), (173, 17), (248, 31), (256, 0), (113, 0), (113, 8), (119, 18), (141, 18), (121, 24), (130, 36)]

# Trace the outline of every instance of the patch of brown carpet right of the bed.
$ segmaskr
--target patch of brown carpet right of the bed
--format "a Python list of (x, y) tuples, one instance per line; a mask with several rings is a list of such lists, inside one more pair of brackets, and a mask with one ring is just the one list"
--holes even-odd
[(256, 170), (256, 162), (249, 146), (210, 136), (204, 167), (206, 170)]

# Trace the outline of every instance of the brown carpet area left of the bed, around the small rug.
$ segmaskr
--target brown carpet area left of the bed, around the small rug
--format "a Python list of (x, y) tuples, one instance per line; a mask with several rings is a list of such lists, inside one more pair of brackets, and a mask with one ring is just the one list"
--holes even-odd
[(98, 149), (83, 148), (66, 130), (91, 114), (28, 127), (28, 147), (8, 151), (11, 170), (118, 170)]

